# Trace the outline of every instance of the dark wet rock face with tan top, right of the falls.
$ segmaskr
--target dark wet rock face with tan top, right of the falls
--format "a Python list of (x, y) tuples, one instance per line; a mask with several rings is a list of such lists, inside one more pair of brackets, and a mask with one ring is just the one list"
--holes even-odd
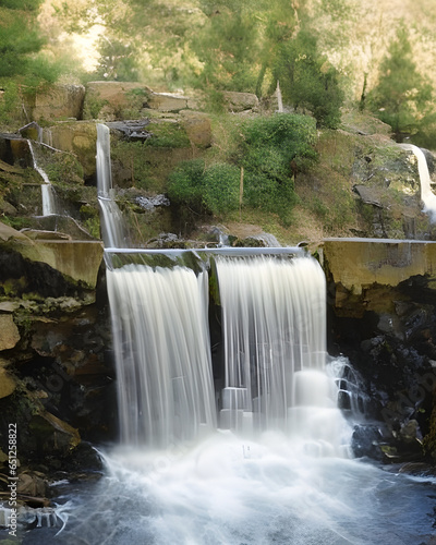
[(403, 461), (436, 451), (436, 444), (428, 446), (436, 391), (435, 257), (434, 242), (325, 241), (329, 352), (347, 355), (361, 374), (366, 416), (379, 421), (379, 444), (388, 445), (384, 451), (364, 446), (373, 431), (356, 429), (356, 448), (365, 456)]

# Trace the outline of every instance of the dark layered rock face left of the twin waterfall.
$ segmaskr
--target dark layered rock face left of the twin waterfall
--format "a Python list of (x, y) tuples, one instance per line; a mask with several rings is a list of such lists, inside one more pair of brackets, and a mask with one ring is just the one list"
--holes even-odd
[[(77, 469), (92, 458), (81, 448), (83, 438), (107, 440), (114, 434), (106, 292), (97, 279), (93, 289), (85, 288), (23, 257), (19, 245), (38, 243), (13, 229), (0, 230), (1, 241), (0, 449), (8, 451), (8, 426), (16, 423), (23, 467)], [(86, 259), (83, 265), (90, 267)], [(80, 461), (83, 456), (86, 462)], [(27, 481), (31, 489), (35, 482)]]

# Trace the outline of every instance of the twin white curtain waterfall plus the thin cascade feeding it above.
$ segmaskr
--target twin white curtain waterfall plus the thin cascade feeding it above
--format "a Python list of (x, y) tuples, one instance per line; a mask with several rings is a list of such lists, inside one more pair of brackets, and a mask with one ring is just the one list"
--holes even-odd
[[(107, 138), (100, 126), (99, 136)], [(343, 419), (336, 408), (338, 388), (325, 370), (326, 286), (318, 263), (291, 249), (277, 255), (244, 249), (230, 256), (217, 249), (203, 258), (201, 250), (185, 251), (194, 255), (194, 267), (178, 254), (164, 268), (143, 264), (147, 251), (134, 249), (131, 263), (120, 266), (117, 246), (123, 263), (130, 251), (122, 249), (107, 207), (105, 149), (99, 144), (98, 165), (106, 173), (99, 174), (98, 194), (110, 247), (107, 283), (122, 443), (168, 448), (217, 429), (244, 438), (277, 431), (315, 456), (341, 455)], [(211, 347), (214, 313), (220, 331)]]

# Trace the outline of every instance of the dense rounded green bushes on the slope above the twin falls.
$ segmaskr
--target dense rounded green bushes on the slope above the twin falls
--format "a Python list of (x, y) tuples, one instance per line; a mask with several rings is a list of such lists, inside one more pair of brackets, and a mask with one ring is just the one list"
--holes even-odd
[(292, 166), (304, 169), (315, 159), (315, 120), (286, 113), (255, 118), (239, 133), (227, 162), (221, 156), (208, 167), (203, 159), (180, 165), (169, 178), (170, 199), (198, 215), (237, 210), (242, 167), (242, 205), (277, 214), (289, 225), (296, 202)]

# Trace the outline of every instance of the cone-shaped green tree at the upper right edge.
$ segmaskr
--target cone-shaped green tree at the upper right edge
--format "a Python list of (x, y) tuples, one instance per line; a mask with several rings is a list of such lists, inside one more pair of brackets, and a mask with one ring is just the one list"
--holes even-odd
[(419, 132), (434, 119), (432, 99), (432, 86), (416, 70), (409, 31), (402, 23), (382, 61), (378, 84), (368, 94), (367, 102), (401, 142), (405, 134)]

